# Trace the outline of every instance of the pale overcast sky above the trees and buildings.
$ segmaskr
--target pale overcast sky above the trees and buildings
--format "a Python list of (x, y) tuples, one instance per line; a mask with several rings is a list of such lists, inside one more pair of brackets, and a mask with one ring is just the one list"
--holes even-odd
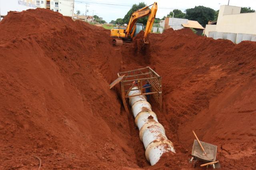
[[(228, 0), (75, 0), (74, 12), (80, 10), (81, 14), (85, 14), (87, 4), (87, 15), (97, 15), (103, 20), (110, 22), (117, 18), (124, 18), (130, 10), (132, 4), (145, 2), (147, 5), (158, 3), (157, 18), (163, 18), (172, 11), (172, 9), (180, 9), (184, 11), (187, 8), (195, 6), (206, 6), (214, 10), (218, 10), (220, 5), (227, 5)], [(9, 10), (22, 11), (26, 10), (24, 6), (18, 4), (18, 0), (0, 0), (0, 13), (6, 15)], [(116, 5), (110, 5), (116, 4)], [(256, 10), (256, 0), (230, 0), (232, 6), (251, 7)], [(168, 8), (168, 9), (166, 9)]]

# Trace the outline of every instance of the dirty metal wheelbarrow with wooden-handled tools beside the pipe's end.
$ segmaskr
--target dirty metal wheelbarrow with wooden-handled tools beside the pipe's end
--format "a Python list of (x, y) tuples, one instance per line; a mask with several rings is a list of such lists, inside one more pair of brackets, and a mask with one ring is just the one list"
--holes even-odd
[[(196, 136), (195, 133), (194, 135)], [(201, 162), (204, 162), (201, 167), (212, 165), (214, 169), (220, 168), (219, 162), (216, 161), (217, 146), (199, 141), (197, 137), (196, 139), (194, 140), (192, 158), (190, 159), (190, 162), (194, 161), (193, 167), (195, 167), (196, 162), (200, 160)]]

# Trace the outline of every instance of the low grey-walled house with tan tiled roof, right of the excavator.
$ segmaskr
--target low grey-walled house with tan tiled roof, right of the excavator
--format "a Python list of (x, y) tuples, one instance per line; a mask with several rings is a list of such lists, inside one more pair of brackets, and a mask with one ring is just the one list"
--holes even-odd
[(164, 29), (172, 28), (174, 30), (178, 30), (182, 28), (194, 28), (197, 31), (198, 35), (202, 35), (204, 31), (204, 27), (202, 27), (202, 25), (200, 25), (198, 21), (192, 21), (182, 18), (167, 17), (164, 20), (161, 20), (159, 24)]

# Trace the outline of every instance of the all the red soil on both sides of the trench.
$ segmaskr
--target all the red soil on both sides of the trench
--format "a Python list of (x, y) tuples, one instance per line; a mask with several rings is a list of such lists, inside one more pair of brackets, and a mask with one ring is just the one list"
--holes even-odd
[[(109, 31), (57, 12), (10, 12), (0, 22), (0, 169), (191, 168), (194, 130), (218, 145), (225, 169), (256, 166), (256, 43), (150, 34), (145, 51), (112, 47)], [(163, 77), (152, 107), (176, 154), (149, 166), (131, 113), (110, 84), (150, 66)]]

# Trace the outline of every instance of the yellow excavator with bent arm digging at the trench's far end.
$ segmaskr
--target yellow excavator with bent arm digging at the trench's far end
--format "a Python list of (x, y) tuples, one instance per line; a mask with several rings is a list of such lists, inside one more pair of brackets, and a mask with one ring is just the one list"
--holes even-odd
[[(152, 6), (151, 9), (149, 8), (150, 6)], [(113, 38), (112, 43), (114, 46), (122, 45), (123, 41), (131, 42), (132, 38), (143, 30), (143, 24), (136, 23), (137, 20), (146, 16), (148, 16), (148, 21), (144, 32), (143, 41), (145, 44), (148, 44), (148, 34), (151, 32), (154, 20), (156, 18), (157, 2), (154, 2), (154, 4), (150, 6), (146, 6), (132, 13), (127, 27), (117, 27), (111, 29), (110, 36)]]

